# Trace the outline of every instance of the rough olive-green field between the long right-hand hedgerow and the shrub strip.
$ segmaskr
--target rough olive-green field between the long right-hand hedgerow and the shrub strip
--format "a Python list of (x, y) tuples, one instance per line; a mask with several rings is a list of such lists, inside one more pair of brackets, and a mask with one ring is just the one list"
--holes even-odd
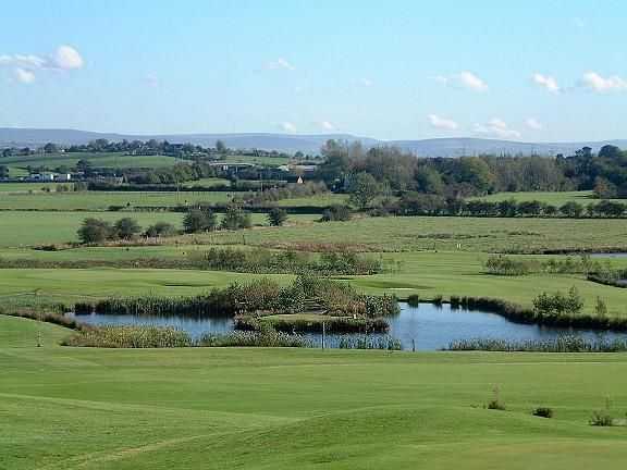
[[(232, 234), (213, 236), (233, 243)], [(390, 217), (257, 230), (251, 245), (310, 248), (341, 244), (366, 251), (525, 251), (627, 248), (627, 220)]]

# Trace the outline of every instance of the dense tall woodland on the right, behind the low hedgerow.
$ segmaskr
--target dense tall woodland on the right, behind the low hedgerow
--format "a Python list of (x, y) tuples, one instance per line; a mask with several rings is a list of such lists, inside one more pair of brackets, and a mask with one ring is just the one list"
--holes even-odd
[[(586, 147), (575, 156), (462, 157), (423, 159), (394, 147), (364, 149), (359, 143), (329, 140), (317, 177), (330, 187), (355, 193), (358, 205), (371, 193), (418, 191), (445, 197), (482, 196), (496, 191), (594, 189), (599, 197), (627, 197), (627, 152), (614, 146), (598, 154)], [(372, 180), (366, 180), (368, 174)], [(366, 183), (366, 185), (365, 185)], [(377, 187), (373, 183), (377, 183)], [(364, 186), (367, 189), (364, 191)]]

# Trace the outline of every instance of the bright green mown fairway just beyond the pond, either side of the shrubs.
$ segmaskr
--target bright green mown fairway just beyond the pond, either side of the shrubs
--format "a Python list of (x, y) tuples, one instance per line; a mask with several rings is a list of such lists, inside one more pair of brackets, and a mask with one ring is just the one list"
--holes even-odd
[[(84, 248), (59, 252), (33, 252), (38, 259), (184, 259), (193, 251), (202, 251), (201, 246), (137, 247), (137, 248)], [(10, 250), (0, 256), (19, 257)], [(582, 275), (536, 274), (528, 276), (494, 276), (483, 273), (483, 261), (488, 255), (465, 252), (422, 253), (372, 253), (381, 256), (389, 272), (370, 276), (356, 276), (351, 283), (371, 294), (395, 294), (401, 298), (419, 294), (423, 299), (437, 295), (495, 297), (531, 306), (532, 299), (542, 292), (566, 292), (576, 286), (586, 299), (583, 311), (594, 311), (594, 299), (600, 297), (607, 304), (608, 313), (627, 316), (627, 289), (605, 286), (586, 281)], [(627, 267), (627, 259), (612, 261)], [(145, 270), (104, 269), (89, 270), (0, 270), (0, 296), (8, 298), (33, 295), (54, 301), (72, 302), (83, 297), (133, 296), (140, 294), (194, 295), (212, 287), (225, 287), (230, 283), (245, 282), (255, 277), (246, 273), (194, 270)], [(274, 275), (281, 282), (292, 276)]]

